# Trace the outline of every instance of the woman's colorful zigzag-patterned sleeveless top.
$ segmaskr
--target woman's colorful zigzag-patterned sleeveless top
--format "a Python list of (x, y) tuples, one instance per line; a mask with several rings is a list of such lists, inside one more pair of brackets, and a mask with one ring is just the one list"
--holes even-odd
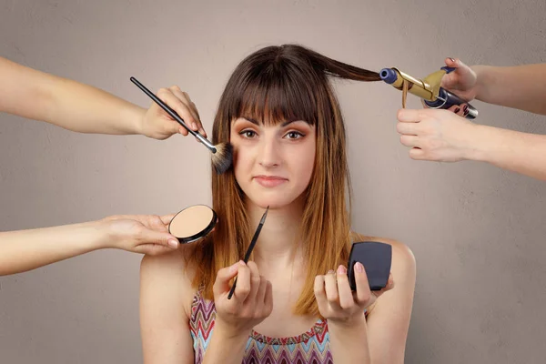
[[(214, 302), (203, 298), (201, 289), (198, 289), (189, 320), (196, 364), (203, 361), (214, 330), (215, 317)], [(308, 332), (291, 338), (269, 338), (252, 330), (242, 363), (332, 364), (328, 322), (319, 319)]]

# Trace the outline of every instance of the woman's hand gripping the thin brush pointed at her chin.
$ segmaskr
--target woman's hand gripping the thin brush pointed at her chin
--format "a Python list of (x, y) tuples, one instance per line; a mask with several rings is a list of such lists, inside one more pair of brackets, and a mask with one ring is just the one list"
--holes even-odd
[[(227, 295), (229, 281), (237, 278), (237, 287), (231, 299)], [(214, 303), (217, 310), (215, 331), (223, 338), (246, 336), (273, 310), (271, 282), (259, 275), (253, 261), (242, 260), (231, 267), (218, 270), (214, 283)]]

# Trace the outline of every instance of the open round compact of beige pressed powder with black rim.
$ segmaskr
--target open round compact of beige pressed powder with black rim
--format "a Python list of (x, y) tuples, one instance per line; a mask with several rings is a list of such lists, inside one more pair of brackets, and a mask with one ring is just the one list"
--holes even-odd
[(168, 224), (168, 232), (178, 238), (180, 244), (204, 238), (215, 227), (216, 212), (206, 205), (194, 205), (178, 212)]

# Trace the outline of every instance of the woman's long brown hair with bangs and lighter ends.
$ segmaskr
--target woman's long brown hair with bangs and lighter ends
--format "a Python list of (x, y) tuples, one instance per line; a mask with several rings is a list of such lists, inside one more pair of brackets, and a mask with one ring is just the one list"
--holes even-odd
[[(264, 123), (305, 120), (316, 126), (315, 166), (305, 193), (301, 221), (305, 228), (300, 228), (299, 237), (308, 257), (307, 278), (294, 309), (301, 315), (319, 315), (314, 278), (347, 264), (351, 242), (345, 126), (329, 77), (380, 80), (376, 72), (347, 65), (301, 45), (262, 48), (247, 56), (229, 78), (212, 130), (212, 143), (216, 145), (229, 141), (231, 122), (240, 116)], [(213, 299), (217, 271), (243, 257), (251, 238), (245, 197), (233, 168), (222, 175), (213, 174), (212, 198), (219, 217), (217, 227), (190, 257), (196, 268), (193, 286), (204, 285), (207, 299)]]

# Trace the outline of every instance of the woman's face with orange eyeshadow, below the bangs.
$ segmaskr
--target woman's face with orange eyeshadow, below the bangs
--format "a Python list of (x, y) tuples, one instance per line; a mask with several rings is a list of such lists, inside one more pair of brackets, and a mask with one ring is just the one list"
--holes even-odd
[(308, 187), (315, 163), (315, 126), (297, 120), (265, 126), (247, 117), (231, 124), (239, 187), (259, 207), (290, 205)]

